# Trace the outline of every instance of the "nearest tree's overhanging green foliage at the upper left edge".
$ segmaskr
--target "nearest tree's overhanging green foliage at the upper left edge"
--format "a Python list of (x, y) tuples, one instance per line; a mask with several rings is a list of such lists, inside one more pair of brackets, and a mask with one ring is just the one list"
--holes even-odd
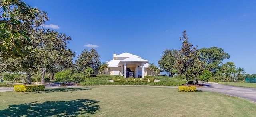
[(38, 15), (38, 8), (21, 0), (0, 0), (0, 54), (4, 59), (28, 53), (26, 43), (30, 39), (21, 23), (24, 17), (33, 19)]

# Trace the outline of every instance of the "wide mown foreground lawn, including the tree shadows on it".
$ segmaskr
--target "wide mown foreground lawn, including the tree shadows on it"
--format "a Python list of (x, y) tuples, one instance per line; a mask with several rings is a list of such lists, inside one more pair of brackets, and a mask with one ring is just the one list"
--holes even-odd
[(1, 116), (252, 117), (256, 104), (177, 88), (86, 86), (44, 92), (1, 92)]

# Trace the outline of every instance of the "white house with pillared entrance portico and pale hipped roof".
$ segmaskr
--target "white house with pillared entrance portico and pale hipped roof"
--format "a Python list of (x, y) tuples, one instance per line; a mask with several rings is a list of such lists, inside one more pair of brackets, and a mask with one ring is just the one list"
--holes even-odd
[[(151, 75), (151, 71), (148, 70), (148, 62), (137, 55), (122, 53), (120, 55), (113, 54), (113, 59), (106, 63), (109, 66), (109, 75), (144, 78), (146, 75)], [(157, 75), (157, 73), (153, 75)]]

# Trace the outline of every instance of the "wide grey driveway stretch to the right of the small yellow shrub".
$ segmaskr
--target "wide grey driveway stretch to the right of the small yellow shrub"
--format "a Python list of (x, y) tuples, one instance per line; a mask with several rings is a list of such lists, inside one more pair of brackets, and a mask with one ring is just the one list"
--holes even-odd
[[(197, 90), (218, 92), (231, 96), (241, 97), (256, 102), (256, 88), (244, 88), (238, 86), (229, 86), (224, 84), (203, 83), (207, 87), (196, 88)], [(256, 84), (255, 84), (256, 85)]]

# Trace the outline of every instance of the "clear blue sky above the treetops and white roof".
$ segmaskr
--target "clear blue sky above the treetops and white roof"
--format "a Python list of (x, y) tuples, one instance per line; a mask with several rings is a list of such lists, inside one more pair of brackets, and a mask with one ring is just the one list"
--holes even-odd
[[(49, 29), (72, 37), (76, 57), (90, 44), (100, 61), (124, 52), (158, 63), (164, 49), (189, 42), (219, 47), (256, 74), (256, 0), (24, 0), (48, 13)], [(52, 24), (52, 25), (50, 25)], [(94, 45), (94, 46), (93, 46)], [(76, 59), (76, 58), (74, 58)], [(158, 64), (157, 64), (158, 65)]]

